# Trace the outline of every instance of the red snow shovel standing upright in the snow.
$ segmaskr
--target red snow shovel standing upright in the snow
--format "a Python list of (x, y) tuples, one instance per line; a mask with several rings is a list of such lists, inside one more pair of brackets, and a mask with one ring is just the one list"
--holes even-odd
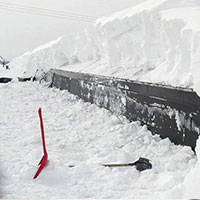
[(48, 163), (48, 154), (47, 154), (46, 145), (45, 145), (44, 126), (43, 126), (43, 121), (42, 121), (42, 109), (41, 108), (38, 109), (38, 114), (40, 117), (40, 126), (41, 126), (41, 133), (42, 133), (42, 145), (43, 145), (44, 155), (38, 164), (39, 168), (38, 168), (37, 172), (35, 173), (35, 176), (33, 177), (33, 179), (37, 178), (37, 176), (40, 174), (40, 172), (44, 169), (44, 167)]

